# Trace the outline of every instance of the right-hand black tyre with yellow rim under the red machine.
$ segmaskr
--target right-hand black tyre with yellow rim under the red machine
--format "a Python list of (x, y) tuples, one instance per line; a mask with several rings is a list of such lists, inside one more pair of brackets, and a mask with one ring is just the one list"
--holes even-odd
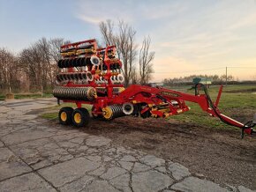
[(86, 108), (77, 108), (72, 113), (72, 123), (80, 128), (86, 126), (90, 122), (90, 114)]

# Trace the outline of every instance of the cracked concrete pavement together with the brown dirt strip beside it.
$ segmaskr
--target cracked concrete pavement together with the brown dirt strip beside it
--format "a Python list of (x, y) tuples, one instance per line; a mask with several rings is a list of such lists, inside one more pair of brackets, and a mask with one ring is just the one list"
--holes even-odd
[(253, 137), (130, 116), (76, 129), (38, 117), (55, 101), (0, 104), (0, 191), (256, 189)]

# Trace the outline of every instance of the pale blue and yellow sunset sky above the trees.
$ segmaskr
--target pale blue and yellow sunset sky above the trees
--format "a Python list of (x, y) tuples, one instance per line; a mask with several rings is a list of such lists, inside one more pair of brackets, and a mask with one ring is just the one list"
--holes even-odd
[(193, 74), (256, 80), (256, 0), (0, 0), (0, 48), (41, 37), (102, 41), (99, 22), (124, 20), (151, 37), (154, 82)]

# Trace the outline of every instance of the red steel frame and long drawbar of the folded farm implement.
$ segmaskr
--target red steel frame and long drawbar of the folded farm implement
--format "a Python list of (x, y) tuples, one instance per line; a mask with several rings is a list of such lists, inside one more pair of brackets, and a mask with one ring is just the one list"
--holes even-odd
[[(78, 108), (82, 108), (82, 104), (92, 105), (92, 114), (94, 117), (103, 116), (105, 119), (111, 119), (124, 114), (139, 114), (142, 117), (168, 117), (170, 115), (181, 114), (190, 109), (185, 104), (185, 101), (191, 101), (198, 103), (203, 111), (208, 114), (218, 117), (227, 124), (236, 126), (242, 129), (242, 136), (244, 132), (251, 135), (254, 131), (252, 127), (255, 126), (256, 122), (247, 122), (245, 124), (237, 122), (230, 117), (222, 114), (218, 109), (218, 104), (222, 94), (222, 86), (220, 87), (217, 100), (215, 103), (210, 99), (207, 88), (204, 85), (196, 85), (196, 94), (188, 94), (184, 92), (177, 92), (162, 87), (151, 87), (147, 85), (130, 85), (124, 89), (123, 84), (114, 84), (111, 80), (113, 76), (117, 77), (121, 73), (122, 63), (115, 57), (116, 47), (108, 46), (107, 48), (98, 48), (95, 40), (79, 41), (76, 43), (70, 43), (61, 47), (64, 57), (67, 55), (69, 59), (77, 57), (75, 55), (76, 49), (79, 49), (80, 45), (89, 45), (89, 54), (85, 54), (85, 57), (95, 57), (99, 59), (96, 64), (89, 64), (87, 70), (91, 72), (94, 79), (88, 81), (87, 84), (76, 84), (73, 81), (68, 81), (63, 87), (93, 87), (94, 89), (104, 88), (104, 94), (99, 96), (101, 91), (95, 92), (94, 100), (74, 100), (72, 99), (61, 99), (56, 96), (58, 100), (64, 102), (72, 102), (77, 105)], [(72, 51), (70, 51), (72, 50)], [(87, 53), (87, 50), (81, 52)], [(118, 72), (111, 69), (111, 64), (116, 64)], [(102, 65), (105, 65), (107, 69), (102, 72)], [(68, 73), (76, 73), (74, 67), (68, 68)], [(96, 83), (96, 79), (104, 78), (105, 83)], [(120, 92), (113, 92), (114, 88), (121, 88)], [(199, 88), (205, 91), (204, 94), (198, 92)], [(72, 112), (72, 115), (74, 112)], [(110, 113), (110, 114), (108, 114)], [(71, 115), (71, 114), (67, 114)], [(61, 121), (61, 116), (60, 122)], [(83, 118), (83, 115), (80, 115)], [(84, 124), (76, 124), (76, 126)]]

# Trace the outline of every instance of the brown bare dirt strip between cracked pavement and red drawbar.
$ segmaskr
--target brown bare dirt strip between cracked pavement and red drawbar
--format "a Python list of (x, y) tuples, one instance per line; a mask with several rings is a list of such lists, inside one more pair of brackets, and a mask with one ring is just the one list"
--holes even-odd
[(217, 183), (256, 189), (256, 137), (241, 140), (237, 130), (125, 116), (109, 122), (94, 120), (82, 131), (171, 159)]

